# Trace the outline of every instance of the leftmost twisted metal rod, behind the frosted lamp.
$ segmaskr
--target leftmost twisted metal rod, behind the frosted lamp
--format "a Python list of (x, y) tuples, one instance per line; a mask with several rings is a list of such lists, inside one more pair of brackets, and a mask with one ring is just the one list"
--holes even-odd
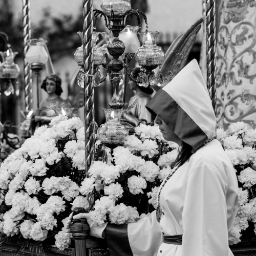
[(25, 82), (25, 109), (32, 108), (32, 71), (25, 56), (28, 51), (27, 40), (31, 38), (30, 27), (30, 0), (23, 0), (23, 60), (24, 60), (24, 82)]

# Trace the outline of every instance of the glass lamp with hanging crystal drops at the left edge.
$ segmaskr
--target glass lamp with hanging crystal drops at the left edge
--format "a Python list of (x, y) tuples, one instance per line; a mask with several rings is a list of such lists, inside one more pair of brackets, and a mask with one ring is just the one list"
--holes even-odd
[(0, 62), (0, 79), (4, 81), (1, 84), (0, 94), (4, 92), (6, 96), (9, 96), (11, 93), (14, 94), (12, 81), (17, 79), (20, 73), (18, 65), (14, 63), (17, 52), (13, 52), (11, 46), (8, 45), (8, 50), (0, 52), (0, 55), (3, 59), (3, 62)]

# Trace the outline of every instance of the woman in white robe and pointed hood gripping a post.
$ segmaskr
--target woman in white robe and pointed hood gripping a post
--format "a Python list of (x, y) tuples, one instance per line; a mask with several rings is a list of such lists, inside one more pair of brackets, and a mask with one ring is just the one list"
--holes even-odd
[[(238, 182), (216, 136), (216, 117), (196, 60), (147, 103), (166, 140), (180, 144), (174, 174), (158, 189), (162, 211), (136, 223), (91, 226), (111, 256), (228, 256)], [(87, 218), (80, 214), (74, 219)], [(71, 222), (72, 216), (70, 216)], [(69, 224), (67, 227), (69, 227)]]

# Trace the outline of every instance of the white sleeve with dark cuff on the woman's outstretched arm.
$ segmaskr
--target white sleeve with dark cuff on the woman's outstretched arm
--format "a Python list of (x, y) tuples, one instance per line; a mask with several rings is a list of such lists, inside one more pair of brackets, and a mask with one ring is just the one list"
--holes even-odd
[(156, 211), (136, 223), (108, 224), (105, 236), (111, 256), (156, 256), (163, 242)]

